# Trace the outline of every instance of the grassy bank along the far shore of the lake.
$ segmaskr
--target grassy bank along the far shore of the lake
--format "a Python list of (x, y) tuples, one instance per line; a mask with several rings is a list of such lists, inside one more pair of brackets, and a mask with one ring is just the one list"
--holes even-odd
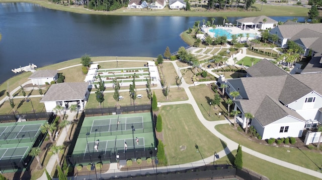
[(169, 10), (165, 8), (163, 10), (130, 10), (127, 8), (121, 8), (112, 12), (98, 12), (87, 10), (82, 6), (62, 6), (59, 4), (52, 4), (50, 1), (46, 0), (0, 0), (0, 3), (8, 2), (25, 2), (25, 3), (34, 3), (45, 8), (53, 10), (61, 10), (73, 13), (80, 14), (97, 14), (97, 15), (117, 15), (117, 16), (185, 16), (185, 17), (253, 17), (253, 16), (308, 16), (307, 8), (303, 7), (293, 7), (293, 6), (277, 6), (277, 5), (263, 5), (262, 11), (261, 4), (253, 5), (250, 11), (207, 11), (207, 9), (194, 9), (191, 11), (178, 11), (178, 10)]

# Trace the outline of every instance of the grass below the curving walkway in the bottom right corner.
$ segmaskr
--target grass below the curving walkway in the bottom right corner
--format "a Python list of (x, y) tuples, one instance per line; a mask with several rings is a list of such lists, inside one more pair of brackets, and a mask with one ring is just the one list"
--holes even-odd
[[(243, 150), (243, 148), (241, 150)], [(230, 163), (232, 163), (235, 155), (236, 150), (233, 150), (218, 161), (230, 161)], [(251, 169), (271, 180), (288, 180), (294, 179), (294, 177), (296, 177), (296, 179), (318, 179), (317, 177), (268, 162), (246, 152), (243, 152), (243, 167)]]

